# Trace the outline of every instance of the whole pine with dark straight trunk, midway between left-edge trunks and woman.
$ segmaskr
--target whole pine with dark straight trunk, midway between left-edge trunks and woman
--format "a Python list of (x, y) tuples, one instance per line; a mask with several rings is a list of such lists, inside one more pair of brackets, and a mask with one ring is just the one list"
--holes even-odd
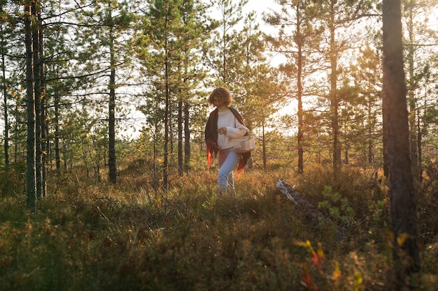
[(108, 170), (109, 181), (113, 184), (117, 182), (115, 111), (119, 84), (116, 75), (128, 64), (127, 42), (134, 20), (128, 4), (126, 1), (94, 1), (93, 10), (80, 10), (77, 15), (83, 25), (78, 38), (83, 38), (85, 47), (92, 49), (87, 66), (94, 68), (95, 78), (107, 80), (106, 88), (98, 84), (98, 93), (108, 96)]

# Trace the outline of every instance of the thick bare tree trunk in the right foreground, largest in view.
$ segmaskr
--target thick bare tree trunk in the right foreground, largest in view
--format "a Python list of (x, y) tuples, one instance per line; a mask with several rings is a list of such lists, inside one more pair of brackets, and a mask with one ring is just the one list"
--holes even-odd
[(383, 0), (383, 103), (386, 107), (391, 218), (394, 232), (393, 290), (406, 290), (420, 269), (417, 217), (409, 149), (407, 89), (403, 70), (400, 0)]

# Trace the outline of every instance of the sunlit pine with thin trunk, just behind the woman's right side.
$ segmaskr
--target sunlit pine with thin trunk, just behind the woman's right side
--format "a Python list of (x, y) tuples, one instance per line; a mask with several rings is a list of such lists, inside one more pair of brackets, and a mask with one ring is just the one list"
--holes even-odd
[[(251, 12), (243, 19), (243, 28), (236, 31), (230, 41), (234, 54), (229, 58), (229, 77), (233, 84), (236, 106), (241, 109), (246, 126), (250, 130), (261, 129), (263, 167), (267, 167), (265, 129), (278, 112), (286, 96), (285, 84), (278, 73), (271, 68), (265, 56), (266, 40)], [(248, 163), (251, 166), (251, 161)]]

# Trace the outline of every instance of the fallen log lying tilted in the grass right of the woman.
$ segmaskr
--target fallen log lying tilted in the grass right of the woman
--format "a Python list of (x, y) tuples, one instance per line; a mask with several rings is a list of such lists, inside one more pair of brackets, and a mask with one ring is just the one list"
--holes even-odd
[(306, 198), (299, 192), (295, 191), (292, 187), (290, 187), (285, 181), (278, 180), (275, 184), (278, 191), (283, 193), (290, 201), (292, 201), (295, 205), (297, 205), (301, 214), (309, 220), (309, 222), (315, 227), (323, 227), (326, 229), (327, 227), (333, 227), (333, 229), (337, 233), (337, 237), (341, 238), (341, 232), (337, 228), (336, 225), (321, 213), (317, 207), (315, 207), (311, 202), (306, 200)]

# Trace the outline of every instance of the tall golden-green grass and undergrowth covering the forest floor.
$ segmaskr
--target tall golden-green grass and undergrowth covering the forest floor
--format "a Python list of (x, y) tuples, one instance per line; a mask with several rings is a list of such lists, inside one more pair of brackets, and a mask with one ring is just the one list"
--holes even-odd
[[(192, 172), (162, 192), (141, 167), (129, 171), (117, 186), (80, 173), (54, 179), (36, 216), (22, 193), (2, 192), (0, 290), (386, 290), (388, 191), (371, 172), (346, 169), (333, 181), (323, 167), (302, 175), (256, 167), (237, 177), (236, 193), (216, 197), (214, 172)], [(319, 210), (343, 236), (309, 224), (276, 190), (278, 178), (315, 205), (327, 200)], [(353, 220), (330, 216), (341, 207), (327, 186)], [(421, 253), (418, 290), (438, 290), (434, 235)]]

